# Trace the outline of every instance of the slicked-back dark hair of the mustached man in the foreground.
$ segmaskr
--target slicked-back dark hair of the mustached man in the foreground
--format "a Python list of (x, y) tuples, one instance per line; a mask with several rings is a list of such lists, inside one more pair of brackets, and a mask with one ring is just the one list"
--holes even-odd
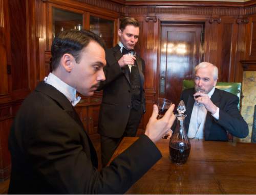
[(51, 48), (51, 68), (52, 70), (58, 67), (60, 58), (64, 54), (74, 56), (76, 63), (80, 61), (80, 52), (91, 41), (99, 43), (105, 50), (105, 42), (98, 35), (86, 30), (67, 30), (61, 32), (54, 38)]

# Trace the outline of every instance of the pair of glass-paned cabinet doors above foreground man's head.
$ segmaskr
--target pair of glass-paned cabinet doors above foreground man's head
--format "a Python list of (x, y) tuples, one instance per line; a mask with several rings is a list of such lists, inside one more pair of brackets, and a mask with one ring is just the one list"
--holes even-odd
[(49, 4), (49, 46), (54, 37), (62, 31), (86, 29), (102, 37), (106, 47), (111, 48), (117, 43), (116, 23), (117, 18), (115, 17)]

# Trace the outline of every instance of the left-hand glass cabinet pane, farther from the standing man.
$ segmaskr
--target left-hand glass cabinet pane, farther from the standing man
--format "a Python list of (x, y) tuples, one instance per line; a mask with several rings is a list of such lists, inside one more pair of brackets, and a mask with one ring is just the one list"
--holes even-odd
[(58, 8), (52, 10), (53, 38), (61, 31), (67, 29), (82, 29), (82, 14), (74, 13)]

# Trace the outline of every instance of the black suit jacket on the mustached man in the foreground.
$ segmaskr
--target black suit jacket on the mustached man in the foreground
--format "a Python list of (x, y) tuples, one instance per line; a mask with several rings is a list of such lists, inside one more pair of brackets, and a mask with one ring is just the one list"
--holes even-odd
[(41, 82), (23, 102), (9, 136), (9, 193), (124, 193), (161, 157), (141, 136), (97, 171), (91, 140), (66, 96)]

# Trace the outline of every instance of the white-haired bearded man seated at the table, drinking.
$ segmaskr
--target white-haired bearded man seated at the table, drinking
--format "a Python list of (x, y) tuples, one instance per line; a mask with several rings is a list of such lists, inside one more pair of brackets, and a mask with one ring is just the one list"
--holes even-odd
[(217, 79), (218, 68), (202, 62), (195, 67), (195, 88), (181, 94), (190, 139), (227, 141), (228, 133), (239, 138), (248, 135), (248, 125), (238, 110), (238, 96), (215, 88)]

